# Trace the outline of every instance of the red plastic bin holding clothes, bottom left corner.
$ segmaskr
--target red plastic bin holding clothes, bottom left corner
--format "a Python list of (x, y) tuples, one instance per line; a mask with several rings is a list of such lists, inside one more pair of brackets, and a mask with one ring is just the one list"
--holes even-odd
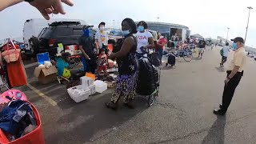
[(18, 138), (13, 142), (10, 142), (9, 139), (6, 137), (6, 135), (2, 132), (0, 129), (0, 143), (1, 144), (45, 144), (45, 138), (42, 134), (42, 122), (40, 115), (38, 113), (38, 110), (35, 108), (35, 106), (29, 102), (32, 106), (32, 109), (34, 111), (34, 115), (36, 117), (36, 121), (38, 124), (38, 128), (30, 132), (29, 134), (26, 134), (22, 138)]

